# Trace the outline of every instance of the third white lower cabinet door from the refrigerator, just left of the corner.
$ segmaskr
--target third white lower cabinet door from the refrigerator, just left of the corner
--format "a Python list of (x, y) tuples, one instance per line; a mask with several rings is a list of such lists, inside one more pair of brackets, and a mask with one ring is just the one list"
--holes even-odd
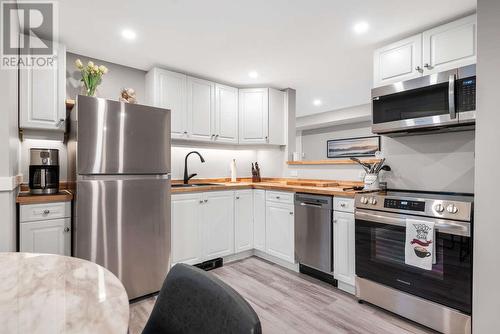
[(234, 248), (242, 252), (253, 248), (253, 192), (236, 191), (234, 194)]

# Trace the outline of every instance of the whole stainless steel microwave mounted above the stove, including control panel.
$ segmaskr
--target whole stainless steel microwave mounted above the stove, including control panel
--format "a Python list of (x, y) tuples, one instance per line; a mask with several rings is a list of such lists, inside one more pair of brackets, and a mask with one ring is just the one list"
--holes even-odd
[(473, 129), (476, 65), (372, 89), (372, 132), (409, 135)]

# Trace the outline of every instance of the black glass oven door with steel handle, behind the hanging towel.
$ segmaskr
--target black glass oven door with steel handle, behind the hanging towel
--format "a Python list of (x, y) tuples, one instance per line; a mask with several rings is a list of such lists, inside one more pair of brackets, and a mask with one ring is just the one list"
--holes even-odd
[(356, 275), (471, 314), (470, 223), (418, 217), (435, 223), (432, 270), (405, 264), (406, 218), (402, 214), (356, 211)]

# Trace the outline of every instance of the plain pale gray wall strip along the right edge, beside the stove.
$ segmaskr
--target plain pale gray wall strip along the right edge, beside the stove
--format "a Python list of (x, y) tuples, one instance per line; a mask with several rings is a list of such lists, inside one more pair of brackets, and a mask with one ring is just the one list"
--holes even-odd
[(500, 218), (496, 166), (500, 164), (500, 1), (477, 4), (476, 195), (474, 214), (474, 334), (500, 331)]

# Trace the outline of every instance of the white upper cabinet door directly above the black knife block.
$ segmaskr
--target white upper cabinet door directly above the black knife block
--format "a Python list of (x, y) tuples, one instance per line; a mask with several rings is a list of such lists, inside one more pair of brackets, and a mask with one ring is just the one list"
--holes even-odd
[(267, 143), (269, 133), (268, 89), (240, 89), (239, 104), (239, 142)]

